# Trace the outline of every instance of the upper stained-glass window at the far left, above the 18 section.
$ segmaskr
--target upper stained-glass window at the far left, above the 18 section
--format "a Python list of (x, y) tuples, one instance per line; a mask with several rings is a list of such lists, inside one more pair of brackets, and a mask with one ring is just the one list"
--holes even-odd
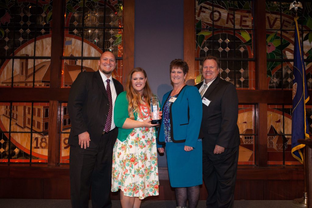
[(52, 3), (0, 4), (0, 86), (50, 86)]

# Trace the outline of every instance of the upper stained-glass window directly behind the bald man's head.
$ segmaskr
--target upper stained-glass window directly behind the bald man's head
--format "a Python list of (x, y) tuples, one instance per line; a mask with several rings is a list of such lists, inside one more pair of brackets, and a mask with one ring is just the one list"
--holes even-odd
[(122, 80), (123, 1), (66, 1), (61, 86), (81, 71), (96, 71), (104, 51), (117, 57), (113, 77)]

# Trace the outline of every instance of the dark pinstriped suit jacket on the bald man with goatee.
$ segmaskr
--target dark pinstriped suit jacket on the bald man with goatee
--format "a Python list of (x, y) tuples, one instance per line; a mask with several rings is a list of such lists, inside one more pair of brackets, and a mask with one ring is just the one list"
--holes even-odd
[[(117, 95), (123, 91), (119, 81), (113, 79)], [(71, 132), (68, 143), (78, 146), (78, 134), (90, 134), (90, 148), (95, 148), (101, 138), (109, 110), (109, 100), (99, 71), (80, 72), (68, 98)], [(117, 137), (117, 134), (116, 134)]]

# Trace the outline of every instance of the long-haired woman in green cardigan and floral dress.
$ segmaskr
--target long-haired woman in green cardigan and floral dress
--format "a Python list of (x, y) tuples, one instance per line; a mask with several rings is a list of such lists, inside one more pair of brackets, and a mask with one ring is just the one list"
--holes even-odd
[(141, 200), (158, 195), (155, 126), (151, 124), (152, 91), (142, 68), (128, 75), (126, 91), (115, 102), (118, 139), (113, 150), (112, 188), (120, 189), (123, 208), (139, 208)]

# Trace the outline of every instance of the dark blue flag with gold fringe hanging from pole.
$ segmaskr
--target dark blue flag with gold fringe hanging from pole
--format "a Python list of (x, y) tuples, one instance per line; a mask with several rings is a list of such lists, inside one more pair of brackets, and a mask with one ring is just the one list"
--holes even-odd
[(292, 91), (292, 118), (291, 118), (291, 154), (303, 163), (302, 148), (304, 144), (298, 143), (298, 139), (309, 138), (309, 124), (305, 115), (305, 104), (309, 100), (309, 91), (305, 75), (305, 62), (303, 49), (300, 42), (298, 17), (295, 17), (295, 48), (294, 48), (294, 80)]

